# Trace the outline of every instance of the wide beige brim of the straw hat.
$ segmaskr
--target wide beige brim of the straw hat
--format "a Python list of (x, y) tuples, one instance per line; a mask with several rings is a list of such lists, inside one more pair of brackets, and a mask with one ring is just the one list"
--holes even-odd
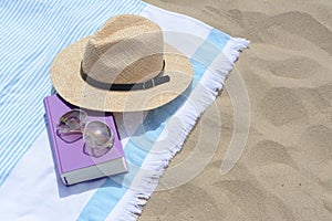
[(89, 38), (85, 38), (65, 48), (51, 67), (55, 91), (75, 106), (103, 112), (154, 109), (178, 97), (191, 83), (193, 67), (189, 59), (165, 43), (165, 75), (169, 76), (169, 82), (139, 91), (107, 91), (91, 86), (80, 74), (87, 41)]

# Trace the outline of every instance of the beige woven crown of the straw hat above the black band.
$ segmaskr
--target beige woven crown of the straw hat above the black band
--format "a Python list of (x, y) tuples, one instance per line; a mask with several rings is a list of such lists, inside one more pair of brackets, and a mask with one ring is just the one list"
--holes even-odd
[(151, 80), (163, 69), (162, 29), (139, 15), (108, 20), (86, 44), (82, 67), (93, 80), (133, 84)]

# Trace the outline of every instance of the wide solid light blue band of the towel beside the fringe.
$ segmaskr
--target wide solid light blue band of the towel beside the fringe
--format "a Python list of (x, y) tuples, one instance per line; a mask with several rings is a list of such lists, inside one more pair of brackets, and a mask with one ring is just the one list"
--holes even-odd
[[(191, 87), (187, 90), (186, 93), (190, 93), (191, 90), (198, 84), (199, 80), (205, 74), (206, 70), (210, 63), (216, 59), (216, 56), (221, 52), (224, 46), (227, 44), (229, 35), (212, 29), (210, 34), (205, 40), (205, 42), (197, 49), (196, 53), (190, 59), (191, 65), (194, 67), (194, 80)], [(214, 52), (212, 55), (209, 52)], [(152, 143), (145, 143), (144, 148), (138, 147), (137, 140), (129, 140), (125, 146), (125, 155), (128, 161), (129, 172), (125, 175), (113, 176), (112, 178), (105, 179), (105, 182), (101, 188), (94, 193), (90, 199), (85, 208), (82, 210), (79, 220), (105, 220), (107, 215), (112, 212), (118, 200), (128, 190), (128, 187), (120, 186), (118, 180), (126, 179), (126, 183), (132, 183), (138, 169), (144, 162), (148, 150), (153, 148), (153, 145), (162, 134), (167, 119), (181, 106), (185, 102), (181, 96), (172, 103), (159, 107), (157, 109), (151, 110), (144, 120), (142, 127), (137, 129), (137, 135), (141, 130), (149, 131), (148, 138), (154, 140)], [(162, 109), (163, 108), (163, 109)], [(152, 128), (158, 125), (157, 128)], [(133, 136), (135, 137), (135, 135)], [(145, 137), (146, 138), (146, 137)], [(139, 143), (139, 140), (138, 140)], [(116, 199), (116, 200), (115, 200)]]

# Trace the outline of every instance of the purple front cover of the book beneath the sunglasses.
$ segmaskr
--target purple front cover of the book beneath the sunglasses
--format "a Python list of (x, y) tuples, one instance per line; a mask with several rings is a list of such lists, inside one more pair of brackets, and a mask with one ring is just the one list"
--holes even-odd
[[(120, 141), (118, 133), (115, 126), (113, 114), (85, 110), (87, 122), (101, 120), (106, 123), (114, 135), (113, 147), (103, 156), (92, 157), (84, 152), (84, 140), (79, 138), (75, 141), (68, 143), (56, 134), (56, 125), (60, 117), (73, 108), (77, 108), (64, 102), (59, 95), (51, 95), (44, 98), (45, 113), (49, 124), (49, 137), (53, 148), (54, 160), (56, 161), (60, 175), (68, 173), (82, 168), (93, 167), (106, 164), (118, 158), (124, 158), (123, 146)], [(125, 160), (124, 160), (125, 162)], [(125, 166), (126, 167), (126, 166)], [(123, 172), (123, 171), (118, 171)], [(114, 172), (114, 173), (118, 173)], [(108, 176), (108, 175), (105, 175)], [(92, 176), (93, 177), (93, 176)], [(96, 178), (96, 177), (94, 177)], [(86, 179), (85, 179), (86, 180)]]

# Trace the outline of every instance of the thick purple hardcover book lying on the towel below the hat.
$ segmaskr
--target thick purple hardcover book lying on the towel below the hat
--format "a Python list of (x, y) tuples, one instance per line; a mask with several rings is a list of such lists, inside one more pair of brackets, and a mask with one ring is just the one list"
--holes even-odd
[[(66, 186), (126, 172), (127, 164), (121, 144), (114, 116), (112, 113), (86, 110), (87, 120), (100, 120), (105, 123), (114, 136), (112, 148), (101, 156), (92, 156), (86, 151), (83, 135), (75, 140), (63, 139), (56, 129), (60, 117), (75, 107), (58, 94), (46, 96), (43, 99), (45, 117), (48, 120), (48, 133), (53, 159), (62, 182)], [(81, 136), (81, 137), (80, 137)]]

